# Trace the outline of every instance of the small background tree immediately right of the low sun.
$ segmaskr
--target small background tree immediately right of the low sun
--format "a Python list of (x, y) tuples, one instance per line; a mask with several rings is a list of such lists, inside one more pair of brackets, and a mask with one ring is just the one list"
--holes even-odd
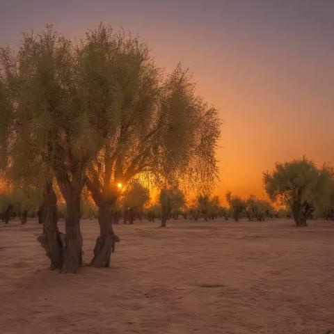
[(150, 191), (137, 180), (133, 180), (127, 186), (124, 194), (123, 209), (124, 223), (134, 223), (134, 216), (142, 214), (144, 205), (150, 200)]

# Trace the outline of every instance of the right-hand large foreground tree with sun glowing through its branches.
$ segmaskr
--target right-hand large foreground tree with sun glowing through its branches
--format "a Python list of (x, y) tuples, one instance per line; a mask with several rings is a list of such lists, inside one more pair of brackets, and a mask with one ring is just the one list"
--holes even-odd
[(95, 83), (103, 87), (98, 100), (105, 140), (86, 171), (86, 184), (100, 223), (91, 264), (106, 267), (115, 236), (109, 217), (122, 188), (138, 175), (156, 184), (182, 178), (213, 184), (221, 122), (216, 109), (196, 95), (188, 72), (178, 65), (165, 78), (138, 38), (100, 26), (88, 36), (83, 56), (93, 78), (87, 94), (95, 92)]

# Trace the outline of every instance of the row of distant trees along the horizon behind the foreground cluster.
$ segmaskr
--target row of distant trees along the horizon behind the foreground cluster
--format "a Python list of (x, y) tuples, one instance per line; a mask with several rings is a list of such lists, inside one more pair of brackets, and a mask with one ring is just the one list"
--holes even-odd
[[(333, 175), (333, 169), (329, 166), (317, 168), (305, 157), (285, 164), (276, 164), (272, 173), (264, 173), (264, 188), (269, 200), (259, 199), (254, 195), (244, 199), (229, 191), (225, 196), (227, 207), (221, 204), (218, 196), (211, 196), (209, 193), (200, 193), (194, 200), (189, 201), (184, 191), (175, 185), (161, 189), (157, 202), (150, 204), (148, 187), (139, 180), (132, 180), (116, 202), (113, 223), (119, 223), (120, 218), (123, 223), (129, 224), (133, 224), (136, 219), (145, 218), (148, 221), (159, 219), (161, 227), (166, 227), (168, 220), (175, 220), (180, 216), (193, 221), (199, 219), (209, 221), (215, 218), (225, 220), (232, 218), (234, 221), (245, 218), (248, 221), (294, 218), (296, 226), (306, 225), (306, 221), (311, 218), (334, 220)], [(88, 196), (89, 193), (84, 191), (81, 216), (97, 218), (96, 206), (93, 208), (94, 203)], [(13, 201), (15, 200), (17, 199), (13, 198)], [(3, 216), (6, 216), (11, 207), (15, 207), (15, 204), (11, 204), (6, 193), (0, 194), (0, 212)], [(16, 207), (20, 213), (20, 209), (24, 206), (19, 203)], [(61, 216), (64, 217), (63, 209)], [(39, 212), (40, 209), (37, 214)], [(304, 224), (301, 224), (301, 221)]]

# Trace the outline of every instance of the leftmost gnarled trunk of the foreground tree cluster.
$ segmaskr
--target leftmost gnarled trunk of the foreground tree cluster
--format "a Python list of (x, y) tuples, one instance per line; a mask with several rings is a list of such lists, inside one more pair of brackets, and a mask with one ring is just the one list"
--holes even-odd
[(56, 193), (52, 183), (48, 182), (45, 186), (43, 209), (40, 210), (39, 218), (43, 222), (43, 234), (37, 239), (49, 257), (50, 269), (63, 267), (65, 257), (65, 234), (58, 230), (58, 209)]

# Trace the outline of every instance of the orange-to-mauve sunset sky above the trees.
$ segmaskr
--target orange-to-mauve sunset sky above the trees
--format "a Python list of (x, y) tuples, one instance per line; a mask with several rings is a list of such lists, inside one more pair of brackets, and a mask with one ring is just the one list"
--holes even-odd
[(219, 109), (218, 195), (264, 196), (276, 161), (334, 162), (334, 1), (0, 0), (0, 46), (100, 22), (140, 35), (167, 72), (182, 61)]

